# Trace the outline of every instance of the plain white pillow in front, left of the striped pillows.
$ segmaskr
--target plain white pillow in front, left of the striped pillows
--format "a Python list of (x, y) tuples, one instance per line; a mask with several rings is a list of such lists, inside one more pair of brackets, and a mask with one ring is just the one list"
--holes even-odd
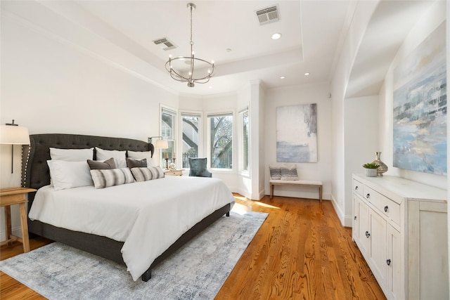
[(47, 160), (51, 182), (55, 190), (94, 185), (89, 165), (84, 162), (65, 162), (64, 160)]

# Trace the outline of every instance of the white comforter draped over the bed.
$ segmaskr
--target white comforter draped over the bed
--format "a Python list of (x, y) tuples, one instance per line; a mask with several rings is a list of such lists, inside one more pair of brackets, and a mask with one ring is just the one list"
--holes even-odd
[(95, 189), (39, 188), (29, 217), (53, 226), (124, 242), (122, 256), (137, 280), (183, 233), (234, 203), (217, 178), (167, 176)]

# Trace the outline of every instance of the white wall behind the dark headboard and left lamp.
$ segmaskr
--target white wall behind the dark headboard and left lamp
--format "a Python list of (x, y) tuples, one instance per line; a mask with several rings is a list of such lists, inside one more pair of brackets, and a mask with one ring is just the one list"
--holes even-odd
[[(15, 122), (33, 133), (79, 133), (147, 141), (159, 132), (159, 104), (178, 96), (123, 72), (27, 22), (1, 18), (1, 124)], [(1, 145), (2, 188), (20, 185), (20, 147)], [(13, 233), (20, 235), (13, 207)], [(3, 209), (0, 211), (3, 218)], [(4, 222), (1, 239), (4, 240)]]

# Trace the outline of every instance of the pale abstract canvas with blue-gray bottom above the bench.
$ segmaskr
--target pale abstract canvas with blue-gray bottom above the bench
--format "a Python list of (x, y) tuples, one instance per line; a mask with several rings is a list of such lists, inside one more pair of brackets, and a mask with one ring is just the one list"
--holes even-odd
[(276, 161), (317, 162), (317, 104), (276, 108)]

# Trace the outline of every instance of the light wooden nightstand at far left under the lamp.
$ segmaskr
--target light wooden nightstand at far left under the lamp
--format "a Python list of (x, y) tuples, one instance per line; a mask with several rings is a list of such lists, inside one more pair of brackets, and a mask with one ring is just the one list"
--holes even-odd
[[(5, 208), (6, 240), (1, 245), (9, 244), (14, 241), (23, 244), (23, 252), (30, 252), (30, 241), (28, 240), (27, 207), (25, 203), (25, 194), (35, 192), (34, 188), (1, 188), (0, 189), (0, 207)], [(20, 226), (22, 227), (22, 238), (12, 234), (11, 228), (11, 205), (19, 204)]]

